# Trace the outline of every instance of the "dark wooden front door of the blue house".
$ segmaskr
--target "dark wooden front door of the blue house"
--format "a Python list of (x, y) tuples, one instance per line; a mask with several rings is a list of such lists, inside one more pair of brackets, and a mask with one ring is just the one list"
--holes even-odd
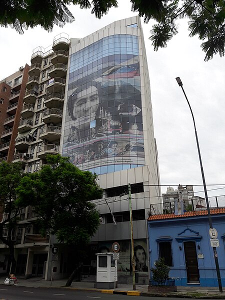
[(199, 271), (195, 241), (185, 241), (183, 245), (186, 262), (187, 282), (199, 283)]

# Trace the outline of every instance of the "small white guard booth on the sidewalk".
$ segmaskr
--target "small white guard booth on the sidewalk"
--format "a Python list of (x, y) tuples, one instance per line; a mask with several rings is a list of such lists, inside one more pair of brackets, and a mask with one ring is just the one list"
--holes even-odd
[(117, 259), (114, 260), (113, 253), (96, 253), (97, 255), (97, 276), (94, 287), (114, 288), (117, 287)]

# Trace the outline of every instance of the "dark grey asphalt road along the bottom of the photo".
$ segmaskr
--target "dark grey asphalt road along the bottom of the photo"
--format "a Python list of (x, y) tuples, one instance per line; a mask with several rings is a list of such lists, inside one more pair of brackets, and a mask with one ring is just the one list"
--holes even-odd
[[(0, 299), (7, 300), (134, 300), (146, 299), (143, 296), (127, 296), (91, 291), (77, 291), (65, 288), (41, 288), (24, 286), (0, 286)], [(164, 297), (151, 297), (151, 300), (165, 300)], [(176, 298), (183, 300), (183, 298)]]

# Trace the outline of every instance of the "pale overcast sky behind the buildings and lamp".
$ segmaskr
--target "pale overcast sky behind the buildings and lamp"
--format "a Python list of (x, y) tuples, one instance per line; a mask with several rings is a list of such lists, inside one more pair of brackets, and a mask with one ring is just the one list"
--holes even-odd
[[(137, 14), (131, 12), (129, 0), (119, 0), (118, 4), (118, 8), (110, 9), (100, 20), (90, 10), (70, 5), (75, 21), (63, 28), (55, 25), (50, 33), (40, 26), (26, 30), (23, 35), (10, 27), (0, 27), (0, 79), (17, 71), (19, 66), (30, 64), (33, 49), (51, 45), (53, 37), (61, 32), (81, 38), (115, 20)], [(188, 37), (186, 20), (179, 21), (179, 33), (167, 47), (155, 52), (148, 39), (151, 24), (144, 24), (142, 19), (161, 184), (175, 185), (174, 188), (179, 183), (202, 184), (193, 122), (175, 80), (177, 76), (183, 82), (195, 117), (206, 184), (225, 184), (225, 58), (215, 55), (204, 62), (201, 42), (197, 37)], [(166, 186), (161, 187), (162, 192)], [(208, 196), (224, 195), (222, 187), (207, 186), (207, 189), (219, 188), (208, 191)], [(197, 192), (200, 190), (202, 186), (195, 186), (195, 195), (204, 196)], [(212, 205), (212, 198), (209, 200)], [(225, 205), (224, 200), (220, 203)]]

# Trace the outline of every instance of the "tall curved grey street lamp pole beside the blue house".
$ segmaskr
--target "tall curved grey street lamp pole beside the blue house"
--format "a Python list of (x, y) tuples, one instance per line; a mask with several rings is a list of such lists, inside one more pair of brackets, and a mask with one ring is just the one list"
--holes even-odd
[[(197, 130), (196, 130), (196, 126), (195, 126), (193, 112), (192, 112), (192, 109), (190, 107), (190, 103), (189, 103), (189, 101), (187, 99), (187, 96), (185, 94), (185, 91), (183, 89), (183, 86), (182, 86), (183, 83), (182, 83), (182, 81), (180, 80), (179, 77), (176, 77), (176, 81), (177, 81), (178, 85), (182, 88), (183, 94), (184, 94), (184, 96), (186, 98), (187, 104), (188, 104), (188, 106), (190, 108), (190, 112), (191, 112), (191, 115), (192, 115), (193, 124), (194, 124), (195, 138), (196, 138), (196, 143), (197, 143), (198, 157), (199, 157), (200, 168), (201, 168), (201, 176), (202, 176), (202, 181), (203, 181), (203, 186), (204, 186), (205, 201), (206, 201), (206, 206), (207, 206), (208, 223), (209, 223), (209, 227), (213, 228), (213, 226), (212, 226), (212, 220), (211, 220), (210, 207), (209, 207), (209, 202), (208, 202), (207, 189), (206, 189), (206, 184), (205, 184), (205, 179), (204, 179), (204, 171), (203, 171), (203, 166), (202, 166), (202, 162), (201, 162), (200, 148), (199, 148), (199, 143), (198, 143), (198, 138), (197, 138)], [(218, 255), (217, 255), (216, 247), (213, 247), (213, 253), (214, 253), (214, 260), (215, 260), (215, 268), (216, 268), (216, 273), (217, 273), (217, 279), (218, 279), (218, 287), (219, 287), (219, 291), (222, 292), (222, 284), (221, 284), (221, 277), (220, 277), (219, 264), (218, 264)]]

